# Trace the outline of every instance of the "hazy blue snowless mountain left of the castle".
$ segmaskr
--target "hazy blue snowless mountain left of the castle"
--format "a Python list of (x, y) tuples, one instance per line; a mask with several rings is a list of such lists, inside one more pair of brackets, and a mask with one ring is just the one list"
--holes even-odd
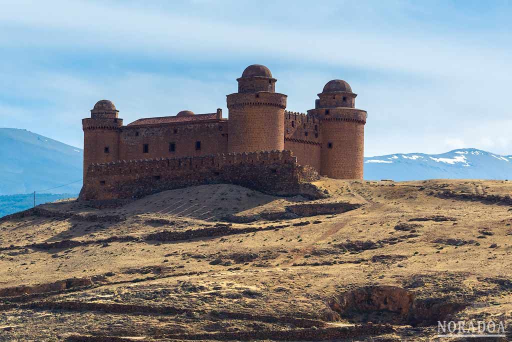
[[(0, 128), (0, 145), (0, 195), (30, 194), (82, 178), (80, 148), (9, 128)], [(78, 194), (81, 186), (76, 182), (51, 192)]]

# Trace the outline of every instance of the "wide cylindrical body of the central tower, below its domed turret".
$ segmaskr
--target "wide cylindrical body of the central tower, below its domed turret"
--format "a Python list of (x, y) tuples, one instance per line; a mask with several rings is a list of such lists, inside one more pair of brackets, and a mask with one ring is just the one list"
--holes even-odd
[(227, 108), (229, 153), (284, 149), (286, 95), (269, 92), (230, 94)]

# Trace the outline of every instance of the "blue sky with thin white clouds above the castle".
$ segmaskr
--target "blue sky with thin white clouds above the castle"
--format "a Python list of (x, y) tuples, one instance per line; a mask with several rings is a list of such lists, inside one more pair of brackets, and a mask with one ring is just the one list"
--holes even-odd
[(368, 111), (365, 155), (512, 154), (508, 1), (3, 1), (0, 126), (82, 146), (100, 99), (129, 123), (211, 113), (263, 64), (306, 112), (331, 79)]

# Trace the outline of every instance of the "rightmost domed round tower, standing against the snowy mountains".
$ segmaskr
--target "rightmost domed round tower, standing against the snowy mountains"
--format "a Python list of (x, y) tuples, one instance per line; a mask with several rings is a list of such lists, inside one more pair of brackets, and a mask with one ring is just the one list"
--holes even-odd
[(362, 179), (366, 111), (355, 108), (357, 94), (344, 80), (327, 82), (315, 109), (322, 119), (322, 174), (336, 179)]

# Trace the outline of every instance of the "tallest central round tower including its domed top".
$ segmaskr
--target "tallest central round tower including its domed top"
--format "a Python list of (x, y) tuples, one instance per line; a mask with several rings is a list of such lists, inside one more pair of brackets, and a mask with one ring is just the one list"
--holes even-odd
[(276, 79), (252, 65), (237, 81), (238, 93), (227, 95), (228, 152), (282, 151), (286, 95), (275, 92)]

